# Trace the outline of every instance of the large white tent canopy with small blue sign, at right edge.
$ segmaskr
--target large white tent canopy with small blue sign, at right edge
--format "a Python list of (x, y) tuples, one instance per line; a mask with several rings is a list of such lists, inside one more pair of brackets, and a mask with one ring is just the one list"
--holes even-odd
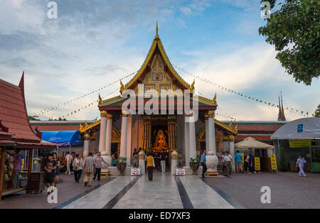
[(320, 118), (303, 118), (290, 121), (275, 131), (271, 138), (320, 138)]

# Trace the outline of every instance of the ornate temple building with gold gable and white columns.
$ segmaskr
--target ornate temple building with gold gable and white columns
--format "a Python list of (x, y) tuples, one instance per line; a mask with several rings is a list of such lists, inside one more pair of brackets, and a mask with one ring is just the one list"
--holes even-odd
[[(134, 96), (130, 94), (129, 99), (128, 90), (135, 93)], [(164, 91), (169, 93), (163, 96), (161, 93)], [(150, 102), (148, 96), (151, 94), (159, 94), (161, 97)], [(181, 110), (184, 107), (186, 111), (186, 101), (182, 102), (181, 96), (185, 96), (184, 99), (187, 96), (187, 102), (193, 107), (183, 114)], [(131, 102), (128, 107), (131, 112), (123, 109), (128, 100)], [(155, 107), (152, 103), (156, 102), (166, 102), (166, 107)], [(198, 105), (197, 115), (194, 112), (195, 104)], [(84, 156), (95, 145), (99, 151), (105, 151), (108, 155), (119, 153), (119, 156), (126, 157), (128, 164), (132, 163), (134, 148), (154, 152), (164, 149), (169, 154), (176, 151), (183, 156), (183, 165), (186, 166), (190, 158), (200, 155), (201, 148), (215, 154), (230, 150), (231, 155), (234, 155), (237, 126), (231, 123), (226, 125), (215, 119), (217, 106), (215, 94), (212, 99), (196, 96), (194, 81), (192, 84), (187, 83), (174, 70), (156, 27), (156, 36), (137, 74), (126, 85), (121, 82), (119, 96), (105, 100), (99, 97), (100, 120), (80, 124)], [(144, 111), (145, 107), (152, 107), (153, 112), (150, 114)], [(196, 121), (188, 122), (193, 117)]]

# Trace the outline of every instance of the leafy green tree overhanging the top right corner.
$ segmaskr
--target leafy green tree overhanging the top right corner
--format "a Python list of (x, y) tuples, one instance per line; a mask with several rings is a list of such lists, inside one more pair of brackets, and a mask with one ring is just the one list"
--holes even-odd
[[(272, 8), (275, 3), (262, 1), (270, 1)], [(296, 82), (311, 85), (312, 78), (319, 77), (320, 1), (284, 0), (279, 5), (259, 34), (279, 51), (276, 58)]]

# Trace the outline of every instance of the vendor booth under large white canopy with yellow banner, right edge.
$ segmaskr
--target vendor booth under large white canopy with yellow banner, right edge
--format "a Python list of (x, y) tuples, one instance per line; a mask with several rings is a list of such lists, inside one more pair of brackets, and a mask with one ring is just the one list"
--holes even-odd
[(320, 118), (304, 118), (290, 121), (271, 136), (277, 160), (281, 153), (284, 170), (297, 171), (299, 155), (306, 159), (306, 171), (320, 172)]

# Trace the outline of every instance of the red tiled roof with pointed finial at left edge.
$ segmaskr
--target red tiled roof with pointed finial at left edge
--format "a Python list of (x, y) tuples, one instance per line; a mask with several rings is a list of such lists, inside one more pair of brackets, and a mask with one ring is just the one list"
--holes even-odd
[(0, 131), (11, 134), (14, 141), (40, 143), (31, 129), (24, 98), (23, 76), (18, 86), (0, 79)]

